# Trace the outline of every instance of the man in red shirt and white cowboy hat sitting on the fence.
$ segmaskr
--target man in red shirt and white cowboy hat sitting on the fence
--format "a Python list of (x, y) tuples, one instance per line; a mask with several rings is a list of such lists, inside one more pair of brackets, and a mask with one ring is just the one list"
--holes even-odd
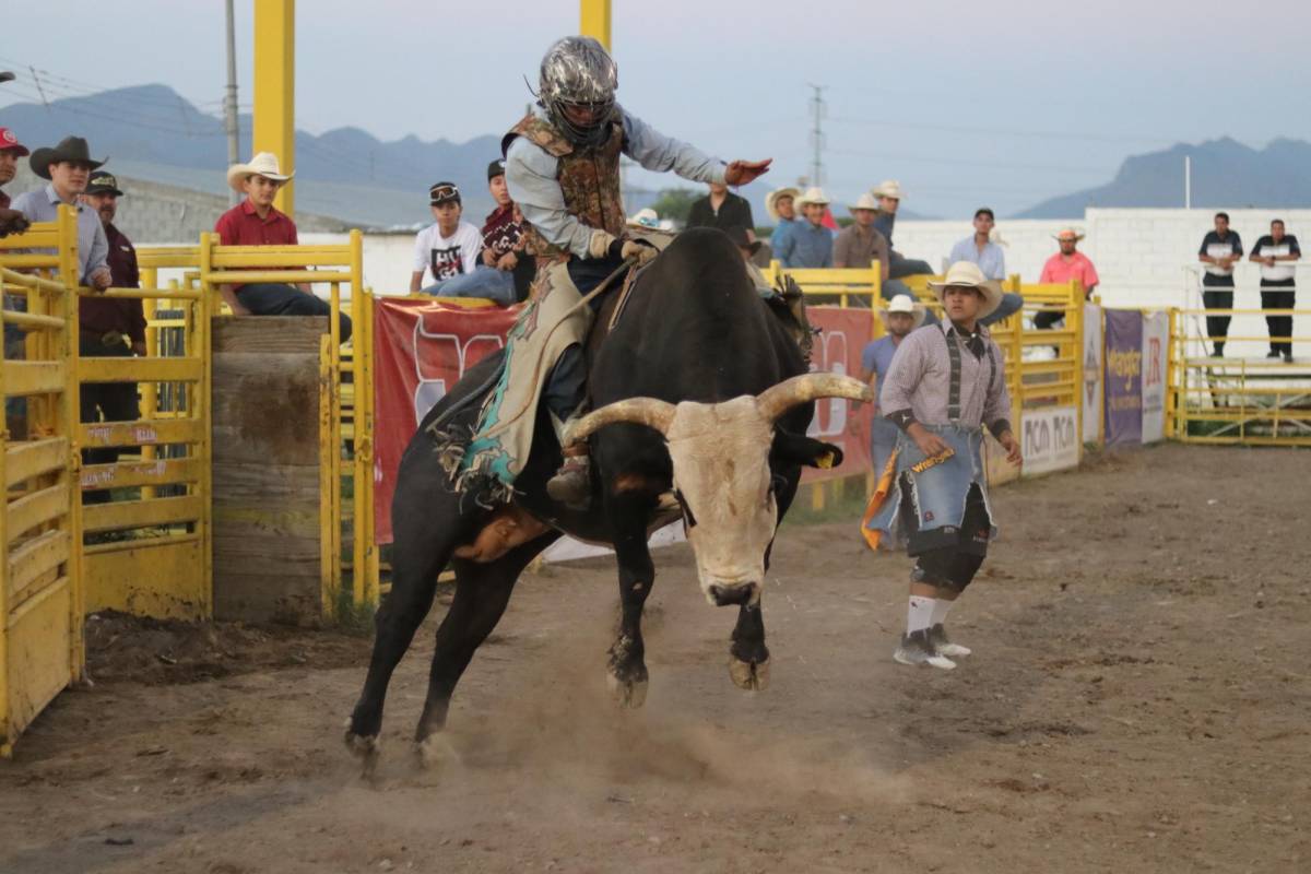
[[(294, 246), (296, 223), (273, 206), (273, 198), (294, 173), (283, 174), (273, 152), (260, 152), (249, 164), (228, 168), (228, 185), (246, 199), (232, 207), (214, 225), (225, 246)], [(309, 291), (308, 284), (288, 286), (257, 282), (223, 286), (223, 299), (237, 314), (329, 316), (332, 307)], [(341, 313), (341, 342), (350, 339), (350, 316)]]

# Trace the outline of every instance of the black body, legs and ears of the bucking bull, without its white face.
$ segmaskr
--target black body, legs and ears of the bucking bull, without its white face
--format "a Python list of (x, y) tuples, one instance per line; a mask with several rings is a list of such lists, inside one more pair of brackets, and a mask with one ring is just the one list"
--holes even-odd
[[(468, 398), (473, 402), (465, 402), (443, 426), (451, 421), (472, 426), (479, 402), (469, 396), (485, 388), (499, 360), (494, 355), (480, 362), (442, 398), (400, 463), (392, 501), (392, 590), (378, 611), (368, 675), (346, 732), (347, 744), (368, 761), (376, 751), (387, 684), (433, 604), (438, 573), (451, 563), (456, 587), (437, 632), (427, 698), (416, 732), (421, 751), (444, 726), (455, 685), (505, 612), (520, 571), (561, 532), (614, 545), (623, 617), (610, 650), (610, 680), (625, 704), (640, 705), (645, 696), (641, 615), (656, 577), (646, 541), (662, 512), (670, 518), (667, 499), (663, 511), (661, 499), (673, 487), (663, 436), (629, 423), (597, 431), (591, 449), (598, 499), (590, 511), (574, 512), (547, 495), (545, 481), (560, 464), (560, 447), (547, 413), (540, 410), (514, 501), (545, 529), (490, 561), (468, 557), (468, 545), (489, 527), (493, 512), (454, 490), (429, 425)], [(633, 397), (720, 402), (758, 396), (806, 372), (796, 338), (762, 305), (737, 249), (721, 232), (700, 229), (680, 235), (645, 271), (621, 321), (595, 355), (590, 393), (594, 408)], [(836, 447), (804, 436), (813, 411), (813, 401), (804, 398), (775, 419), (768, 464), (779, 520), (796, 494), (800, 465), (817, 464), (825, 456), (840, 459)], [(739, 608), (730, 645), (734, 681), (760, 688), (770, 654), (759, 604), (745, 595), (720, 603)]]

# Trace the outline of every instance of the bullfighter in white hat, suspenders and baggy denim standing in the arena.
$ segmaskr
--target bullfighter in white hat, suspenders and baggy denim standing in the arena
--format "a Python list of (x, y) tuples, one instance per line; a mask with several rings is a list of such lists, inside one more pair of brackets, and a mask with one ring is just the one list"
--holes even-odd
[(861, 533), (905, 541), (915, 558), (906, 633), (893, 658), (902, 664), (954, 668), (970, 650), (947, 638), (952, 604), (974, 579), (996, 533), (983, 472), (983, 430), (1020, 464), (1011, 434), (1011, 397), (1002, 350), (979, 324), (1002, 303), (1002, 288), (973, 263), (952, 265), (929, 283), (943, 303), (937, 325), (901, 342), (878, 406), (899, 428), (895, 457), (865, 510)]

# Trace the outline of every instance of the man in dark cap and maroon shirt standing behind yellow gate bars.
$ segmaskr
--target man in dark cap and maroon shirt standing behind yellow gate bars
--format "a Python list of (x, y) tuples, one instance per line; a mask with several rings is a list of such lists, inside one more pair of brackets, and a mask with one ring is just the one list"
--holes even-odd
[[(113, 174), (98, 170), (90, 174), (87, 191), (81, 195), (84, 206), (96, 211), (105, 228), (109, 241), (109, 271), (114, 288), (140, 287), (140, 274), (136, 269), (136, 249), (118, 228), (114, 216), (118, 214), (118, 180)], [(146, 355), (146, 313), (138, 297), (83, 296), (77, 305), (80, 337), (77, 352), (83, 358), (130, 358)], [(83, 383), (81, 421), (134, 422), (140, 418), (136, 404), (135, 383)], [(84, 464), (114, 464), (118, 461), (118, 447), (97, 447), (83, 449)], [(85, 491), (83, 503), (105, 503), (109, 491)]]

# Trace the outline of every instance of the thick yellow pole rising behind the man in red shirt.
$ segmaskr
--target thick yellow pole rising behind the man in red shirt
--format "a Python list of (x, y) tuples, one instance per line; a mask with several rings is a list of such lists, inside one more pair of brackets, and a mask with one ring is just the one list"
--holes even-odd
[[(254, 0), (253, 151), (273, 152), (283, 173), (296, 169), (296, 1)], [(288, 182), (274, 206), (294, 218)]]

